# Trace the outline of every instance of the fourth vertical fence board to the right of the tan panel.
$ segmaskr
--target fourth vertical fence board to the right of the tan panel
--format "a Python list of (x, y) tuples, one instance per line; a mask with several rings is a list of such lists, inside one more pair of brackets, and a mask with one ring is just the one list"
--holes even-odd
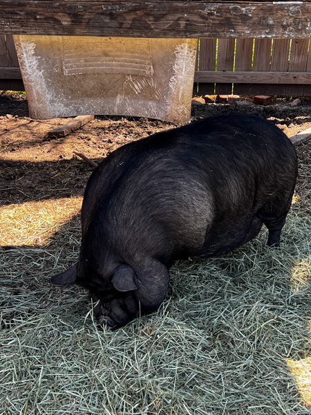
[[(272, 39), (255, 39), (253, 71), (270, 71)], [(267, 84), (252, 84), (252, 95), (267, 95)]]

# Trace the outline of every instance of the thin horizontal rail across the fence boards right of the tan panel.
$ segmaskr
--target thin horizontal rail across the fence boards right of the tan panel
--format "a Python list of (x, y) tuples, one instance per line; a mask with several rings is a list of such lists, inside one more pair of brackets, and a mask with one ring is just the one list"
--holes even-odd
[(234, 84), (311, 84), (307, 72), (243, 72), (243, 71), (196, 71), (194, 82), (218, 82)]

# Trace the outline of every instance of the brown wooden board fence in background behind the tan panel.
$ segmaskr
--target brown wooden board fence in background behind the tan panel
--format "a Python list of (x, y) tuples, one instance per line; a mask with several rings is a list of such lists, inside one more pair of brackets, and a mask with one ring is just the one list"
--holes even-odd
[[(311, 95), (309, 39), (200, 39), (199, 94)], [(0, 35), (0, 89), (23, 91), (12, 35)]]

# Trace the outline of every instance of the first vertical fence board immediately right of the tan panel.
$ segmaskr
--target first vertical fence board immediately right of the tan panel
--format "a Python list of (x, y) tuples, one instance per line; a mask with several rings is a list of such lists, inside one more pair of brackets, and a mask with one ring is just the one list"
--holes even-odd
[[(215, 71), (216, 42), (217, 39), (200, 39), (199, 71)], [(213, 95), (214, 89), (214, 83), (200, 82), (198, 84), (198, 93), (200, 95)]]

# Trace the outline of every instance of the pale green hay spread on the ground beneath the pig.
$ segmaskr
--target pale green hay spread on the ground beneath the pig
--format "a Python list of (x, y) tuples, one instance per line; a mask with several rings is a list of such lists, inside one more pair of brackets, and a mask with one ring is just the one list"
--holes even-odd
[(114, 332), (97, 328), (82, 288), (49, 282), (77, 260), (78, 219), (41, 246), (10, 241), (1, 414), (310, 414), (311, 198), (301, 189), (280, 249), (263, 230), (228, 255), (180, 262), (160, 310)]

